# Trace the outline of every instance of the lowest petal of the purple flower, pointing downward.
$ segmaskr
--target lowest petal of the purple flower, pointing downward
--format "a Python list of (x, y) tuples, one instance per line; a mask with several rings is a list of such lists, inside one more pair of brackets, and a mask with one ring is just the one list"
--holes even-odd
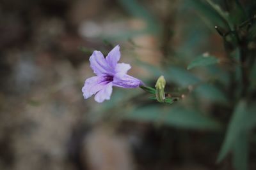
[(95, 101), (97, 101), (98, 103), (102, 103), (104, 100), (109, 100), (112, 94), (112, 86), (112, 83), (108, 83), (104, 86), (103, 89), (97, 92), (97, 94), (94, 97)]

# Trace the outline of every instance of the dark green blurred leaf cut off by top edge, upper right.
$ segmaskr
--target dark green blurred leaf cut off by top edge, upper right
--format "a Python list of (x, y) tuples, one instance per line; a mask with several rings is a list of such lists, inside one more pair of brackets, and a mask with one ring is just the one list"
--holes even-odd
[(202, 17), (206, 18), (206, 20), (210, 20), (212, 28), (218, 25), (226, 31), (230, 30), (228, 15), (225, 11), (221, 10), (220, 6), (217, 4), (210, 0), (192, 0), (191, 5)]

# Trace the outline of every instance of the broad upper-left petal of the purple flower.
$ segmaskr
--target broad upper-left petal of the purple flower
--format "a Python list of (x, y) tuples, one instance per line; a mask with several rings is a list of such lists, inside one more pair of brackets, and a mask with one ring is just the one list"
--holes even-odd
[(112, 67), (109, 66), (108, 62), (106, 61), (106, 59), (100, 51), (94, 51), (89, 60), (93, 72), (98, 76), (102, 74), (114, 73), (114, 69), (112, 69)]

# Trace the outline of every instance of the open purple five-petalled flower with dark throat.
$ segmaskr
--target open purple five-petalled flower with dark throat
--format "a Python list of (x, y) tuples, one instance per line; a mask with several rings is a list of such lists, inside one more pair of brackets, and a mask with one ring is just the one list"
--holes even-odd
[(130, 64), (117, 63), (121, 56), (119, 49), (119, 45), (116, 45), (106, 58), (99, 51), (92, 53), (90, 66), (97, 76), (86, 79), (82, 89), (84, 99), (96, 94), (95, 101), (102, 103), (110, 99), (113, 86), (136, 88), (143, 84), (141, 80), (127, 74), (131, 69)]

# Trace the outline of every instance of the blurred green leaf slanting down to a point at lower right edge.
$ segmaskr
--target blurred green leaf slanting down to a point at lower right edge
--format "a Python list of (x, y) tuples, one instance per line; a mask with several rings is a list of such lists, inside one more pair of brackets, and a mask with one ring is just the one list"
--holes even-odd
[(228, 152), (235, 147), (237, 139), (241, 134), (246, 133), (256, 125), (256, 106), (250, 104), (246, 106), (245, 101), (240, 101), (237, 104), (232, 118), (228, 124), (227, 133), (223, 145), (221, 146), (217, 162), (221, 162)]

